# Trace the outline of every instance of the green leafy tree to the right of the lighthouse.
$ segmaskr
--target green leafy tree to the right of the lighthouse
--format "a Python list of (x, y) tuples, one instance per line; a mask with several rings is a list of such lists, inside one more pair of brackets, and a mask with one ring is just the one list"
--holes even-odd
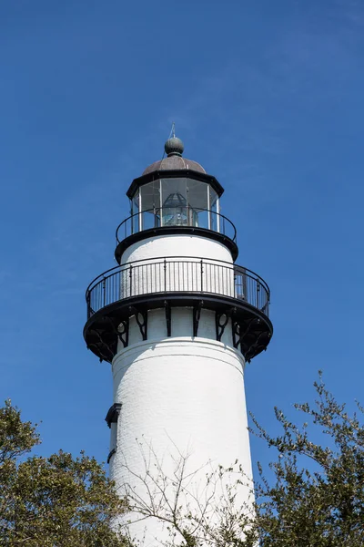
[(256, 527), (262, 547), (364, 545), (363, 408), (358, 405), (349, 416), (321, 376), (314, 385), (315, 404), (295, 405), (304, 416), (302, 426), (278, 408), (280, 436), (271, 437), (254, 420), (258, 436), (278, 451), (270, 464), (273, 484), (259, 468)]

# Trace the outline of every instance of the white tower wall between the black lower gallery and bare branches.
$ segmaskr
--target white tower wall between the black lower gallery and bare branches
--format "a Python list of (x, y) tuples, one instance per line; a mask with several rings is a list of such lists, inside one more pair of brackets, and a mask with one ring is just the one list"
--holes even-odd
[(160, 456), (168, 447), (174, 453), (173, 442), (182, 454), (191, 455), (196, 469), (208, 461), (230, 466), (238, 459), (251, 473), (244, 360), (210, 335), (215, 327), (211, 312), (202, 315), (197, 338), (186, 335), (188, 310), (176, 312), (180, 335), (167, 338), (160, 328), (163, 318), (155, 311), (153, 338), (122, 349), (113, 360), (115, 402), (122, 401), (112, 466), (116, 482), (122, 482), (118, 459), (145, 471), (136, 439), (152, 442)]

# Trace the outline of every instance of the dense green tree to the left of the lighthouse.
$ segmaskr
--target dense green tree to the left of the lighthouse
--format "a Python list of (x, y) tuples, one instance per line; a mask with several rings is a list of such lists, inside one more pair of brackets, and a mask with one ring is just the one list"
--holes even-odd
[(122, 547), (110, 524), (126, 502), (94, 458), (59, 451), (29, 456), (36, 426), (10, 401), (0, 408), (0, 544), (9, 547)]

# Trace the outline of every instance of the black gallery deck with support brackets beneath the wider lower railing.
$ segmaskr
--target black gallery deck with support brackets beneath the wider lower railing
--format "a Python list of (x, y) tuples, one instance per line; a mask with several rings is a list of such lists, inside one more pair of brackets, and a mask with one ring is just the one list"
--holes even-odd
[[(203, 298), (201, 296), (203, 295)], [(215, 312), (216, 339), (222, 336), (231, 323), (233, 346), (250, 360), (265, 350), (273, 333), (273, 326), (262, 311), (248, 304), (221, 294), (168, 293), (140, 294), (106, 305), (88, 319), (84, 336), (87, 347), (100, 360), (111, 362), (117, 353), (117, 342), (129, 344), (130, 318), (135, 316), (142, 340), (147, 340), (149, 312), (164, 309), (167, 336), (173, 326), (172, 308), (190, 308), (192, 312), (191, 335), (198, 335), (202, 310)]]

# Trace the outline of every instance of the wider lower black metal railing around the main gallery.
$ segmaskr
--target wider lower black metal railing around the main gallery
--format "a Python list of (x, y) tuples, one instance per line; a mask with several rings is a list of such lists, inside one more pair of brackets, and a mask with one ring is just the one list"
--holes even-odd
[(268, 316), (268, 284), (247, 268), (217, 260), (166, 257), (122, 264), (88, 285), (87, 319), (120, 300), (142, 294), (218, 294), (243, 300)]

